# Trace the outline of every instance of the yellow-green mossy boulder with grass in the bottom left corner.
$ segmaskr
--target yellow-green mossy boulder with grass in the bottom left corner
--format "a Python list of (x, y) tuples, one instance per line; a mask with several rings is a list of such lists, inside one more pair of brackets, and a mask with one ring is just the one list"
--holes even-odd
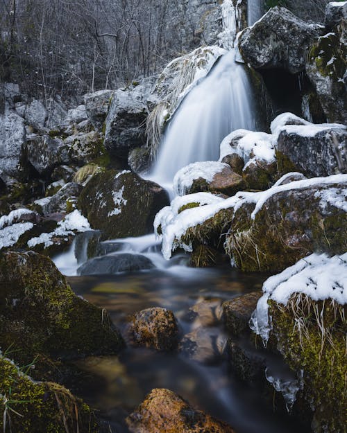
[(99, 432), (94, 414), (68, 389), (37, 382), (0, 355), (0, 429), (3, 432)]

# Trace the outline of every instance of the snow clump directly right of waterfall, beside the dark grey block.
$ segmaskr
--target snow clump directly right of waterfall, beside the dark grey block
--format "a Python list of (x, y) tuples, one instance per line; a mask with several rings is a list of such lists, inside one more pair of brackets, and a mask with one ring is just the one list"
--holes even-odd
[[(234, 143), (232, 143), (232, 141)], [(274, 139), (271, 134), (265, 132), (252, 132), (247, 130), (236, 130), (227, 135), (220, 145), (219, 161), (228, 154), (236, 153), (244, 159), (246, 166), (262, 160), (266, 162), (275, 161)], [(244, 167), (244, 169), (246, 168)]]

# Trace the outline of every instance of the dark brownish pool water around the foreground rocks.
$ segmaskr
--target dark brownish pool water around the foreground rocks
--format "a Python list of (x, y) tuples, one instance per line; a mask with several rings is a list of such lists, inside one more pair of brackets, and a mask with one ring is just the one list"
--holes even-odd
[[(200, 341), (206, 346), (201, 352), (215, 351), (212, 362), (204, 353), (192, 359), (184, 353), (157, 353), (129, 346), (118, 357), (90, 357), (77, 363), (86, 372), (79, 394), (101, 411), (111, 429), (117, 428), (114, 432), (125, 431), (119, 430), (121, 418), (132, 412), (151, 389), (160, 387), (176, 391), (198, 409), (230, 423), (238, 433), (300, 432), (287, 418), (280, 419), (263, 406), (253, 389), (236, 380), (221, 355), (227, 337), (218, 321), (221, 303), (260, 289), (267, 275), (230, 269), (185, 269), (186, 274), (153, 269), (128, 275), (68, 278), (77, 294), (106, 308), (123, 331), (128, 315), (161, 306), (174, 311), (182, 337), (197, 335), (198, 344)], [(215, 342), (216, 336), (219, 345), (209, 348), (209, 338)]]

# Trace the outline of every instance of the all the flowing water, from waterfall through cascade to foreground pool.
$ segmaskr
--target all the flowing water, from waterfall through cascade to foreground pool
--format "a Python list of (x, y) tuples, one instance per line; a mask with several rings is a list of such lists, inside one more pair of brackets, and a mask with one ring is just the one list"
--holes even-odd
[[(259, 4), (259, 0), (248, 0), (249, 24), (259, 18)], [(235, 26), (235, 19), (232, 2), (225, 0), (227, 35), (235, 36), (235, 28), (228, 28)], [(150, 178), (170, 186), (176, 172), (187, 164), (217, 160), (221, 140), (238, 128), (254, 130), (255, 114), (246, 72), (235, 62), (235, 49), (231, 48), (176, 109)], [(266, 275), (242, 274), (230, 267), (192, 269), (187, 267), (184, 255), (166, 261), (153, 234), (113, 242), (117, 251), (112, 254), (142, 254), (155, 268), (112, 276), (76, 276), (78, 265), (87, 260), (87, 244), (82, 242), (81, 247), (76, 241), (67, 253), (53, 260), (69, 276), (74, 291), (106, 308), (121, 330), (126, 329), (128, 315), (161, 306), (173, 310), (180, 336), (189, 335), (200, 349), (192, 358), (184, 351), (164, 354), (128, 345), (119, 356), (89, 357), (78, 362), (83, 380), (71, 383), (71, 389), (100, 411), (110, 432), (126, 432), (124, 418), (155, 387), (176, 391), (195, 407), (230, 423), (237, 433), (304, 431), (286, 414), (273, 414), (255, 389), (235, 378), (225, 351), (228, 335), (221, 320), (211, 320), (221, 312), (223, 301), (260, 289)], [(192, 313), (192, 308), (201, 306), (201, 314)], [(278, 369), (277, 360), (271, 362)]]

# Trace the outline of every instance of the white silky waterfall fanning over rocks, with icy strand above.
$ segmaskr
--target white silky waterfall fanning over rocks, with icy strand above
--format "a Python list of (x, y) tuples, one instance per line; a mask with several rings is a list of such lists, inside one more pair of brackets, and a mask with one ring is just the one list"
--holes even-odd
[(167, 127), (150, 178), (172, 182), (180, 168), (196, 161), (217, 161), (219, 144), (233, 130), (255, 129), (252, 91), (244, 66), (235, 62), (235, 7), (221, 6), (223, 31), (219, 39), (230, 51), (180, 104)]

